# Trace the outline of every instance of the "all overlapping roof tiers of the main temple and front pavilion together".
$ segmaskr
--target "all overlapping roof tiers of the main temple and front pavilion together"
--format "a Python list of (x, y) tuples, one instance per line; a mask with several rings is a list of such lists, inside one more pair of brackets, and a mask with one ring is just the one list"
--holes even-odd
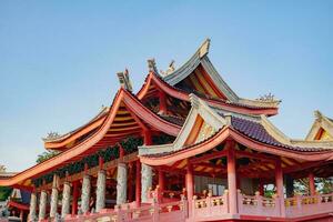
[[(332, 142), (289, 139), (268, 120), (266, 117), (278, 113), (279, 100), (271, 95), (258, 100), (236, 95), (209, 60), (209, 48), (210, 40), (206, 40), (188, 62), (179, 69), (171, 67), (167, 73), (160, 73), (150, 61), (150, 72), (137, 94), (122, 87), (110, 108), (104, 108), (87, 124), (44, 139), (44, 147), (61, 151), (60, 154), (9, 180), (0, 180), (0, 185), (31, 186), (32, 178), (147, 131), (178, 137), (172, 144), (140, 150), (141, 160), (152, 165), (158, 159), (182, 160), (188, 150), (202, 153), (230, 137), (258, 152), (294, 157), (300, 161), (332, 159)], [(129, 81), (125, 77), (123, 83)], [(161, 93), (165, 94), (165, 104), (172, 112), (159, 112), (148, 105)]]

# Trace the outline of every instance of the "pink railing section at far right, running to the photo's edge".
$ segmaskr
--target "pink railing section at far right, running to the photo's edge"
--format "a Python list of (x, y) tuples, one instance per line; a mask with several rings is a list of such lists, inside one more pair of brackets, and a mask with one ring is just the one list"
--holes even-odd
[(296, 195), (285, 199), (284, 203), (287, 218), (333, 213), (333, 193), (313, 196)]

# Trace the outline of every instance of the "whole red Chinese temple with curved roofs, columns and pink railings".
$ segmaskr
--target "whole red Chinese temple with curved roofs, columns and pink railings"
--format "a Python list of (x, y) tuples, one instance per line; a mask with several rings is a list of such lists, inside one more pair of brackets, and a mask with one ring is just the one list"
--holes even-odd
[(270, 120), (280, 101), (239, 97), (209, 49), (167, 71), (149, 60), (137, 93), (128, 70), (117, 73), (110, 107), (43, 139), (57, 155), (0, 179), (31, 193), (27, 220), (332, 221), (321, 181), (333, 186), (333, 121), (316, 111), (304, 140), (289, 138)]

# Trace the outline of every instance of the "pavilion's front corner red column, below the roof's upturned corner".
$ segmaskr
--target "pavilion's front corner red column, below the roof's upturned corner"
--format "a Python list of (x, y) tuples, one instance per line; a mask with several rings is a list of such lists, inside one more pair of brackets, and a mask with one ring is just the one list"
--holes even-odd
[(229, 190), (229, 210), (231, 214), (238, 213), (238, 190), (236, 190), (236, 172), (235, 172), (235, 154), (234, 145), (231, 141), (228, 148), (228, 190)]

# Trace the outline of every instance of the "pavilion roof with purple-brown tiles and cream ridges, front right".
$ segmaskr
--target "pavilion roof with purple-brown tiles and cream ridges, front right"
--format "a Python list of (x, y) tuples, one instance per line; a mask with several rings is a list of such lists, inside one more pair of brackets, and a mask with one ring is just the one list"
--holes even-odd
[[(154, 165), (179, 161), (213, 149), (230, 138), (256, 151), (281, 157), (303, 161), (333, 159), (333, 142), (293, 140), (276, 129), (265, 115), (228, 113), (224, 110), (212, 109), (206, 102), (194, 95), (191, 95), (191, 102), (190, 114), (174, 142), (140, 148), (139, 154), (142, 162)], [(199, 125), (194, 123), (198, 121), (198, 117), (202, 118), (213, 130), (205, 138), (186, 143), (189, 137), (194, 134), (193, 129)]]

